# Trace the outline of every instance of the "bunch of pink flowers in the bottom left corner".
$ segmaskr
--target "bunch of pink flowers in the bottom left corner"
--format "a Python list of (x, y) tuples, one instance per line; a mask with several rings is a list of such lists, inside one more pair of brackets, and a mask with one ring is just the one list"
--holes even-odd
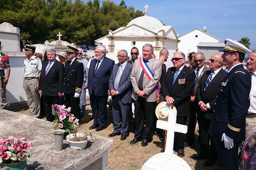
[(0, 163), (14, 164), (28, 160), (29, 155), (26, 152), (29, 147), (32, 144), (25, 137), (9, 136), (8, 139), (0, 139)]

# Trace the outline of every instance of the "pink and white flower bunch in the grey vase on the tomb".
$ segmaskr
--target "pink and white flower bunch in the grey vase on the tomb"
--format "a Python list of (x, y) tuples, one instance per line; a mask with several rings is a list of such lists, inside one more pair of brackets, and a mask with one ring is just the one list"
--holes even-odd
[(66, 108), (65, 105), (52, 105), (52, 114), (56, 117), (53, 121), (52, 129), (63, 129), (70, 133), (76, 128), (79, 123), (73, 114), (71, 114), (71, 108)]

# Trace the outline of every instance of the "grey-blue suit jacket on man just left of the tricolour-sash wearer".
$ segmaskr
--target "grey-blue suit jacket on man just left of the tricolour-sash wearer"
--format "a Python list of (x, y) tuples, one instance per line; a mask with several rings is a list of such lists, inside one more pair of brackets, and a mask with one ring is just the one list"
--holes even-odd
[[(114, 83), (118, 69), (119, 63), (113, 65), (113, 71), (109, 79), (109, 91), (114, 90)], [(112, 96), (113, 100), (120, 99), (124, 104), (131, 103), (131, 70), (132, 64), (127, 62), (119, 81), (119, 87), (117, 89), (119, 94), (117, 96)]]

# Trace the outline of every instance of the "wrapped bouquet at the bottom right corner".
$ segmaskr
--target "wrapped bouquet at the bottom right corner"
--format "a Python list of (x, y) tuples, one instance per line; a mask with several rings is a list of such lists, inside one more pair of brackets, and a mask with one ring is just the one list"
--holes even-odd
[(241, 150), (241, 157), (239, 160), (241, 170), (256, 169), (256, 132), (245, 140), (244, 146)]

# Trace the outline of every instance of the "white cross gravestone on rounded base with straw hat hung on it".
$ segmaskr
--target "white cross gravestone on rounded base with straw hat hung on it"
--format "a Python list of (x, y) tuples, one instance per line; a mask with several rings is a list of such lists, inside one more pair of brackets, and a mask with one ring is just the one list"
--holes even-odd
[[(173, 153), (174, 133), (186, 133), (187, 126), (176, 123), (177, 110), (165, 106), (166, 102), (161, 102), (156, 109), (159, 120), (157, 120), (157, 128), (166, 129), (166, 149), (163, 153), (152, 156), (145, 162), (141, 170), (191, 170), (189, 164), (182, 158)], [(168, 117), (167, 117), (168, 116)]]

